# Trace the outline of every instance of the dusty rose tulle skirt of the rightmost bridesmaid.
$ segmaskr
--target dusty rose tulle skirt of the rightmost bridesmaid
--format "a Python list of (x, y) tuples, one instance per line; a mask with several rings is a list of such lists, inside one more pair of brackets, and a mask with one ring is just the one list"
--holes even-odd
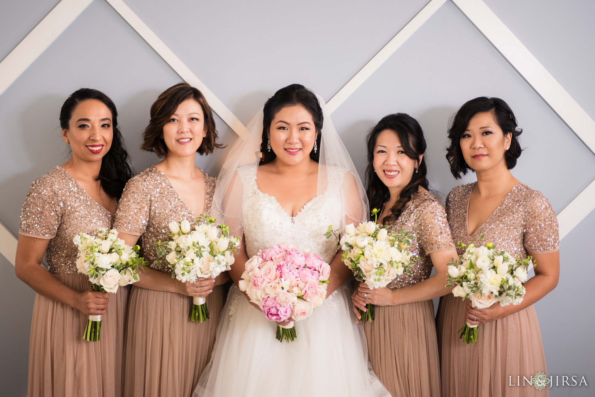
[[(523, 376), (547, 374), (546, 358), (535, 308), (531, 305), (500, 320), (479, 326), (475, 345), (466, 344), (456, 332), (465, 324), (468, 301), (451, 293), (440, 298), (436, 317), (443, 397), (549, 396), (518, 385)], [(520, 378), (517, 378), (520, 376)], [(512, 377), (512, 378), (509, 378)]]

